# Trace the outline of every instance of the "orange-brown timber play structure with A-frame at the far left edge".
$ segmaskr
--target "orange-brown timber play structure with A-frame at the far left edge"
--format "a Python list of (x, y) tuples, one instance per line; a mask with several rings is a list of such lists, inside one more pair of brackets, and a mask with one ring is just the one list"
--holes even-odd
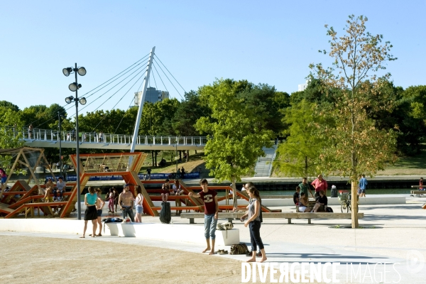
[[(53, 180), (56, 181), (56, 177), (50, 169), (48, 160), (45, 158), (43, 148), (22, 147), (2, 149), (0, 150), (0, 155), (11, 155), (12, 157), (16, 157), (11, 169), (9, 170), (6, 184), (11, 179), (13, 170), (16, 170), (19, 166), (27, 168), (30, 173), (28, 180), (17, 180), (9, 191), (5, 192), (6, 184), (3, 188), (1, 188), (0, 214), (3, 215), (4, 218), (16, 217), (20, 213), (25, 213), (25, 217), (28, 216), (28, 213), (30, 213), (31, 216), (34, 216), (35, 207), (38, 208), (38, 214), (43, 212), (45, 215), (53, 215), (53, 212), (55, 211), (65, 212), (65, 203), (71, 202), (70, 200), (67, 200), (67, 193), (64, 194), (64, 200), (62, 202), (40, 202), (40, 200), (44, 197), (43, 189), (45, 185), (40, 185), (38, 182), (37, 175), (35, 174), (36, 168), (43, 166), (45, 169), (50, 171)], [(34, 180), (35, 182), (33, 187), (29, 185), (31, 180)]]

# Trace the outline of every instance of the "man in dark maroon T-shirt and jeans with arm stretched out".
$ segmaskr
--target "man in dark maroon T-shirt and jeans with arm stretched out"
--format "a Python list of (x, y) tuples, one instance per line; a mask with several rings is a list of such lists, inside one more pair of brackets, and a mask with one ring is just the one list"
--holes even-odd
[[(207, 249), (203, 253), (210, 251), (209, 254), (214, 254), (214, 241), (216, 239), (216, 225), (217, 225), (217, 212), (219, 206), (217, 204), (217, 192), (209, 190), (209, 182), (205, 178), (200, 181), (202, 191), (200, 193), (190, 192), (189, 197), (201, 197), (204, 203), (204, 236), (207, 241)], [(212, 239), (212, 246), (210, 246), (210, 239)]]

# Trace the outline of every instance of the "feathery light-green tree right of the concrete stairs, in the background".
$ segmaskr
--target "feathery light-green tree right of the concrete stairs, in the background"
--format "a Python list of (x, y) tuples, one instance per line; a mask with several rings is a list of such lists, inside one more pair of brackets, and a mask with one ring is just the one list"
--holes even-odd
[(317, 104), (303, 99), (298, 104), (283, 111), (283, 121), (290, 125), (285, 131), (288, 134), (283, 143), (278, 146), (279, 159), (275, 165), (285, 175), (293, 177), (314, 176), (318, 172), (317, 159), (324, 146), (324, 140), (315, 137), (317, 124), (324, 124), (324, 116), (317, 116)]

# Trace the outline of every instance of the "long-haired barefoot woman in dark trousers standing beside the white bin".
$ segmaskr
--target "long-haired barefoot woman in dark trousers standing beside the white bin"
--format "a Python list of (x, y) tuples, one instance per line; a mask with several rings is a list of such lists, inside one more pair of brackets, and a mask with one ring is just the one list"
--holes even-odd
[(249, 219), (244, 223), (244, 226), (249, 226), (250, 229), (250, 240), (251, 240), (251, 258), (247, 262), (256, 261), (257, 246), (262, 252), (262, 258), (259, 262), (266, 261), (265, 247), (261, 239), (261, 196), (256, 187), (249, 187), (247, 189), (250, 197), (249, 206), (247, 206), (248, 212), (241, 217), (241, 222), (244, 222), (246, 217)]

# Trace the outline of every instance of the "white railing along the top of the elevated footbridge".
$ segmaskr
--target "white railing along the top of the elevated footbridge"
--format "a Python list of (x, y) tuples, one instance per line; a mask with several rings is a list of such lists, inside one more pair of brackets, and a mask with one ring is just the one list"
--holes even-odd
[[(33, 129), (23, 128), (21, 130), (9, 127), (14, 136), (21, 133), (23, 140), (38, 141), (62, 141), (70, 142), (77, 139), (75, 131), (55, 131), (52, 129)], [(78, 140), (82, 143), (104, 143), (104, 144), (131, 144), (133, 135), (112, 134), (102, 132), (80, 132)], [(191, 145), (204, 146), (207, 143), (206, 136), (143, 136), (137, 137), (136, 144), (139, 145)]]

